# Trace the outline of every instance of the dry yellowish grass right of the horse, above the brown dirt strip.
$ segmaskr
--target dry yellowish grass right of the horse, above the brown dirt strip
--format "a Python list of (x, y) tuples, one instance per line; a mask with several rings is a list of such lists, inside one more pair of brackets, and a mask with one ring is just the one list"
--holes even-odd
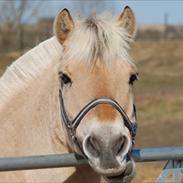
[(134, 88), (141, 124), (183, 119), (182, 47), (181, 41), (134, 45), (132, 54), (141, 75)]

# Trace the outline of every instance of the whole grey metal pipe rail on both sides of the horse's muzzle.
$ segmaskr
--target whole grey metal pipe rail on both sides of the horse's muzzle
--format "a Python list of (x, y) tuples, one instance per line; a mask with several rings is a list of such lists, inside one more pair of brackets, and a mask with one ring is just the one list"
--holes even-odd
[[(183, 160), (183, 147), (134, 149), (132, 156), (137, 162)], [(0, 171), (59, 168), (86, 165), (82, 156), (71, 154), (0, 158)]]

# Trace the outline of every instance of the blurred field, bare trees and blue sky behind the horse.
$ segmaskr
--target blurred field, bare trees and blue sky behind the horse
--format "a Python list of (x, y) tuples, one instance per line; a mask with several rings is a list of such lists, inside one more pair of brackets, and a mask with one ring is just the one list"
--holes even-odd
[[(136, 147), (183, 146), (183, 1), (1, 0), (0, 75), (16, 58), (53, 35), (58, 11), (75, 16), (125, 5), (138, 24), (131, 55), (140, 73), (135, 84), (139, 129)], [(151, 183), (165, 162), (138, 163), (135, 183)]]

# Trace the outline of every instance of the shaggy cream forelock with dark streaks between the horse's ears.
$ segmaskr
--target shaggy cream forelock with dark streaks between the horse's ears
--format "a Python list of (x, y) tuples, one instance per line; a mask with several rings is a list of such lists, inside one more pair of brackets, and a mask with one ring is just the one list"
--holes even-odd
[(91, 65), (99, 57), (104, 63), (115, 59), (130, 61), (127, 31), (110, 15), (92, 15), (75, 20), (75, 28), (66, 45), (63, 61), (84, 61)]

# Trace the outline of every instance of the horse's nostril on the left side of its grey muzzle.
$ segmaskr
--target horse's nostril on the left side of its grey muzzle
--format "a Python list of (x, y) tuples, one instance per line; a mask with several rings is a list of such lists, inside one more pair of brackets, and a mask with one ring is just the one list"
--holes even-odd
[(100, 156), (100, 146), (95, 137), (89, 136), (85, 141), (85, 153), (94, 157)]

